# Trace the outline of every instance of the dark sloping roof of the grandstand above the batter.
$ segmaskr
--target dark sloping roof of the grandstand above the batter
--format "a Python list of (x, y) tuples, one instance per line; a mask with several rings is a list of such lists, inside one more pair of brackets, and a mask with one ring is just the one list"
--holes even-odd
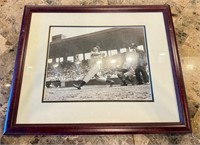
[(49, 58), (88, 53), (96, 45), (101, 51), (144, 45), (144, 27), (111, 28), (50, 43)]

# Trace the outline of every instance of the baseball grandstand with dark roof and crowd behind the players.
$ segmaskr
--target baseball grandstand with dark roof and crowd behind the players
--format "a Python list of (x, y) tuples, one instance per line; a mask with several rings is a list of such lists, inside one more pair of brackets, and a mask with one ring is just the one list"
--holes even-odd
[[(67, 35), (67, 34), (65, 34)], [(89, 70), (90, 52), (98, 45), (104, 54), (101, 76), (111, 77), (116, 84), (117, 68), (124, 60), (134, 61), (130, 45), (134, 42), (146, 53), (144, 27), (110, 28), (97, 32), (67, 38), (63, 34), (52, 36), (48, 49), (46, 87), (71, 87), (75, 81), (82, 80)], [(134, 67), (134, 66), (133, 66)], [(105, 84), (90, 80), (88, 85)]]

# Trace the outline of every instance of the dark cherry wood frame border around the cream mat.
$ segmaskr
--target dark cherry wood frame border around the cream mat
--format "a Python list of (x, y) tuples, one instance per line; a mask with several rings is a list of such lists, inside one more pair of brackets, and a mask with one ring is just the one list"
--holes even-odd
[[(32, 13), (124, 13), (162, 12), (178, 102), (179, 123), (16, 124), (20, 90)], [(151, 6), (25, 6), (4, 134), (119, 134), (191, 132), (181, 65), (169, 5)]]

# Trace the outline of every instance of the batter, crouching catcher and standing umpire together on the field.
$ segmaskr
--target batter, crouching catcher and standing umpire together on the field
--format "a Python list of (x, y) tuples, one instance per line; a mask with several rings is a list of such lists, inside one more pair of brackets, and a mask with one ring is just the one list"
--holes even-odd
[[(117, 76), (122, 82), (121, 85), (127, 86), (127, 81), (137, 85), (148, 83), (149, 76), (146, 71), (147, 57), (145, 51), (138, 49), (138, 46), (134, 43), (130, 45), (130, 50), (132, 51), (126, 52), (121, 65), (115, 68), (115, 71), (118, 72)], [(112, 80), (111, 77), (102, 77), (98, 75), (102, 69), (102, 60), (104, 59), (105, 54), (100, 52), (99, 46), (95, 46), (90, 52), (90, 55), (91, 59), (89, 61), (89, 71), (79, 84), (73, 84), (73, 86), (77, 89), (81, 89), (83, 85), (94, 77), (97, 81), (107, 82), (110, 87), (112, 87), (114, 80)], [(134, 59), (134, 61), (132, 61), (132, 59)], [(134, 78), (136, 78), (136, 80), (134, 80)]]

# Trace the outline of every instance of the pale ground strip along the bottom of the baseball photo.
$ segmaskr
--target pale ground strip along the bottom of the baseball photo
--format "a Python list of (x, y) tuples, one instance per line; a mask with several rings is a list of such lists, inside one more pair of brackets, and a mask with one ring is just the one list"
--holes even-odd
[(46, 88), (43, 101), (152, 101), (150, 85)]

